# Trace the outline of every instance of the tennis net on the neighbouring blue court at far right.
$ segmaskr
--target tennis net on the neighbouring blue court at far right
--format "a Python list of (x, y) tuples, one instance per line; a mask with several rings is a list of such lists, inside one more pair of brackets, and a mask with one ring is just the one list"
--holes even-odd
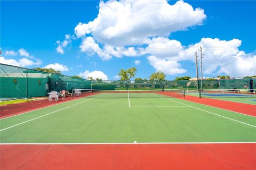
[(252, 89), (200, 89), (201, 98), (255, 98)]

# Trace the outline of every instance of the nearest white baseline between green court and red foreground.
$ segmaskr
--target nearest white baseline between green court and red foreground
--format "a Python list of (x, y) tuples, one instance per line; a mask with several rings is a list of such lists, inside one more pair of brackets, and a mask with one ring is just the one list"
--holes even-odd
[(230, 144), (230, 143), (256, 143), (256, 142), (116, 142), (116, 143), (0, 143), (0, 145), (152, 145), (152, 144)]

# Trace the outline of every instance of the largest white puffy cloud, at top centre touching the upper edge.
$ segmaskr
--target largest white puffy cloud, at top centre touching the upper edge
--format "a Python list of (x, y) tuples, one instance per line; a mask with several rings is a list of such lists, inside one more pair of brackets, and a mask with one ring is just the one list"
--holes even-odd
[(99, 43), (114, 47), (143, 44), (148, 37), (169, 36), (171, 32), (200, 25), (204, 10), (183, 1), (124, 0), (100, 2), (97, 18), (79, 22), (77, 37), (91, 33)]

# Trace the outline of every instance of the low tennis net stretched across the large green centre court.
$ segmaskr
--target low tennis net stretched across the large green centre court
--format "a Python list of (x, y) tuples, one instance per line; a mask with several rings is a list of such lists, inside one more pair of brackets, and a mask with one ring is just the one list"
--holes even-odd
[(183, 89), (164, 90), (91, 90), (73, 89), (74, 96), (95, 98), (184, 98)]

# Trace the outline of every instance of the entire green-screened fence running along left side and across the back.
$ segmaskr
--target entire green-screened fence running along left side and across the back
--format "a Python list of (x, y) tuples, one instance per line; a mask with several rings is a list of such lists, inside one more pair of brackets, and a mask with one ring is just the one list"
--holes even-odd
[[(203, 80), (204, 89), (249, 89), (249, 79)], [(256, 79), (253, 78), (253, 89)], [(200, 83), (201, 81), (199, 81)], [(48, 87), (48, 88), (47, 88)], [(125, 82), (120, 80), (91, 81), (67, 75), (52, 74), (33, 69), (0, 64), (0, 100), (46, 96), (47, 92), (72, 89), (125, 89)], [(129, 89), (196, 89), (195, 80), (132, 80)]]

